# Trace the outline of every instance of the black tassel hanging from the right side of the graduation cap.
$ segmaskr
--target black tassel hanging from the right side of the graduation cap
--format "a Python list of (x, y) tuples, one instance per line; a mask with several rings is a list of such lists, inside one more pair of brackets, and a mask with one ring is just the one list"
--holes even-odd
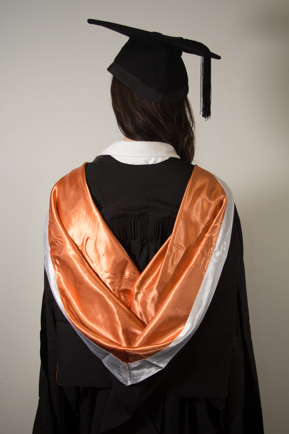
[(201, 59), (200, 111), (206, 120), (211, 117), (211, 56), (209, 49), (203, 49)]

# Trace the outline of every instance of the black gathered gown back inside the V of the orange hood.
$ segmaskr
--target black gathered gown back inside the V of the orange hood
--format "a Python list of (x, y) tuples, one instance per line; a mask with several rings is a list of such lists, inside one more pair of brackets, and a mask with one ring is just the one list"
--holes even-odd
[(171, 235), (193, 169), (178, 158), (126, 164), (111, 155), (86, 165), (96, 207), (140, 272)]

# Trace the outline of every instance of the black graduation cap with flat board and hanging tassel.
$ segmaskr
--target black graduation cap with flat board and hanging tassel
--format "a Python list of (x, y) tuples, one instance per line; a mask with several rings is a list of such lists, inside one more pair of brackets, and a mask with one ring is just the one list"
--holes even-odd
[(129, 89), (153, 102), (171, 103), (184, 99), (189, 86), (181, 55), (185, 52), (201, 56), (200, 109), (203, 118), (210, 117), (211, 58), (220, 59), (220, 56), (190, 39), (108, 21), (87, 21), (129, 37), (107, 70)]

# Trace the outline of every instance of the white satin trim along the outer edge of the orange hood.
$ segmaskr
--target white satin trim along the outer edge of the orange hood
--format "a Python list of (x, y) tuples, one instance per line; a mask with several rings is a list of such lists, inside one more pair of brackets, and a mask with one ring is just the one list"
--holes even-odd
[[(215, 175), (214, 175), (215, 176)], [(177, 352), (188, 342), (188, 340), (194, 335), (198, 329), (200, 323), (202, 322), (205, 313), (210, 305), (213, 298), (215, 289), (217, 287), (221, 272), (223, 270), (223, 265), (227, 258), (227, 253), (230, 246), (230, 238), (233, 226), (233, 216), (234, 216), (234, 199), (230, 188), (222, 180), (215, 176), (217, 181), (221, 184), (227, 195), (227, 207), (225, 210), (225, 215), (223, 223), (220, 228), (220, 233), (217, 239), (215, 249), (213, 250), (210, 263), (205, 273), (203, 282), (200, 286), (200, 290), (194, 302), (194, 306), (190, 312), (184, 329), (177, 336), (174, 341), (167, 346), (167, 348), (159, 351), (158, 353), (148, 357), (147, 359), (139, 360), (134, 363), (124, 363), (118, 358), (116, 358), (111, 353), (99, 348), (88, 338), (82, 335), (79, 330), (77, 330), (71, 323), (72, 327), (75, 329), (76, 333), (82, 339), (83, 342), (89, 347), (89, 349), (99, 357), (103, 364), (108, 368), (119, 381), (124, 385), (128, 386), (131, 384), (138, 383), (145, 378), (150, 377), (161, 369), (165, 368), (168, 362), (177, 354)], [(59, 290), (56, 283), (55, 273), (53, 269), (53, 264), (50, 258), (50, 247), (48, 242), (48, 215), (46, 217), (46, 224), (44, 230), (44, 253), (45, 253), (45, 270), (48, 276), (49, 285), (53, 296), (62, 311), (63, 315), (69, 321), (66, 312), (63, 308), (62, 301), (60, 298)]]

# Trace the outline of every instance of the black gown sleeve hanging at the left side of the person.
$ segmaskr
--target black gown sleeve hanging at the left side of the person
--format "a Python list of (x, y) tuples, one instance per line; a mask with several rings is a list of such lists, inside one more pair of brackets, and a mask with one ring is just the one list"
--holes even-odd
[(56, 384), (56, 320), (46, 272), (41, 309), (40, 360), (39, 402), (33, 434), (77, 433), (77, 414), (69, 403), (65, 388)]

